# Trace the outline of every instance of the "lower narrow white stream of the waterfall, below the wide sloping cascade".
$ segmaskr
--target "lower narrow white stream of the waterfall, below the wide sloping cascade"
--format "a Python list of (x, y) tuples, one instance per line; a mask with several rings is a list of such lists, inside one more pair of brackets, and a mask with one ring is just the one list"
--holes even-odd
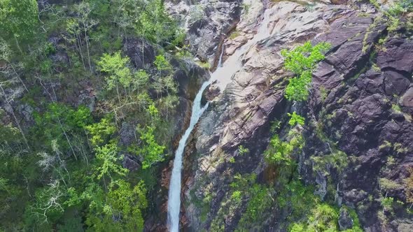
[(186, 140), (193, 131), (195, 124), (197, 124), (204, 110), (208, 108), (208, 103), (204, 107), (201, 106), (202, 93), (209, 85), (209, 82), (204, 82), (200, 92), (195, 96), (193, 103), (192, 115), (190, 117), (190, 124), (186, 129), (181, 140), (179, 141), (179, 147), (175, 152), (174, 168), (172, 169), (171, 182), (169, 183), (169, 196), (168, 196), (168, 225), (169, 231), (179, 231), (179, 211), (181, 209), (181, 169), (182, 169), (182, 155), (185, 149)]

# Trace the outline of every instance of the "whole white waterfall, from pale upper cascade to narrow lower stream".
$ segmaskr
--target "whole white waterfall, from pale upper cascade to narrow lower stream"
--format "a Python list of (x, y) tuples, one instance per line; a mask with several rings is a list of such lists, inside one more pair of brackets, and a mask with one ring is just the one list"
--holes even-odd
[[(225, 89), (226, 85), (231, 82), (232, 75), (234, 75), (239, 69), (241, 69), (241, 57), (247, 52), (251, 46), (255, 45), (258, 41), (262, 40), (263, 38), (267, 38), (271, 31), (267, 29), (267, 24), (269, 23), (269, 10), (266, 10), (264, 13), (264, 19), (260, 24), (260, 28), (257, 31), (257, 34), (250, 41), (246, 44), (242, 45), (241, 48), (237, 49), (233, 55), (228, 57), (228, 59), (221, 64), (221, 59), (223, 55), (223, 51), (221, 52), (220, 61), (218, 64), (218, 68), (214, 73), (211, 75), (211, 80), (208, 82), (204, 82), (200, 91), (195, 96), (192, 115), (190, 118), (190, 125), (188, 129), (186, 129), (185, 133), (183, 134), (181, 140), (179, 141), (178, 149), (175, 152), (175, 159), (174, 159), (174, 168), (172, 169), (172, 176), (171, 181), (169, 183), (169, 196), (168, 196), (168, 226), (169, 231), (171, 232), (178, 232), (179, 231), (179, 212), (181, 209), (181, 169), (182, 169), (182, 156), (183, 151), (185, 150), (186, 140), (190, 136), (190, 133), (193, 131), (195, 124), (197, 124), (198, 120), (200, 119), (202, 113), (208, 108), (208, 103), (202, 107), (201, 106), (201, 99), (202, 93), (208, 87), (209, 83), (213, 82), (214, 80), (218, 81), (218, 87), (220, 89)], [(224, 49), (224, 45), (222, 50)]]

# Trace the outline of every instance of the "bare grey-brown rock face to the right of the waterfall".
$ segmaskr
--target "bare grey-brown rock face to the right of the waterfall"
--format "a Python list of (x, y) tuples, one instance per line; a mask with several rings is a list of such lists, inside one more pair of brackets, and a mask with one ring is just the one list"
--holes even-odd
[[(307, 122), (304, 149), (297, 160), (303, 182), (318, 183), (319, 196), (355, 209), (365, 231), (412, 231), (411, 215), (402, 208), (387, 212), (379, 202), (384, 196), (406, 201), (404, 180), (413, 167), (412, 38), (404, 36), (402, 29), (388, 32), (378, 13), (361, 13), (362, 9), (351, 6), (316, 3), (309, 8), (282, 1), (262, 8), (267, 8), (265, 22), (271, 36), (240, 57), (242, 68), (210, 103), (187, 147), (183, 228), (210, 229), (230, 197), (236, 173), (255, 173), (265, 181), (263, 151), (269, 143), (270, 124), (294, 110)], [(224, 57), (248, 40), (247, 31), (264, 22), (258, 18), (246, 23), (242, 19), (248, 17), (240, 18), (237, 31), (244, 39), (226, 39)], [(385, 39), (379, 42), (380, 38)], [(292, 104), (283, 97), (290, 73), (282, 69), (280, 51), (308, 40), (325, 41), (332, 47), (314, 72), (307, 103)], [(235, 48), (228, 50), (231, 46)], [(330, 154), (333, 143), (349, 164), (340, 172), (326, 167), (326, 173), (317, 173), (311, 158)], [(248, 155), (239, 154), (239, 145), (249, 149)], [(230, 161), (234, 158), (235, 162)], [(393, 187), (386, 189), (384, 181)], [(336, 189), (333, 196), (328, 184)], [(199, 202), (206, 196), (211, 199), (204, 212)], [(245, 208), (241, 203), (221, 219), (225, 231), (237, 228)], [(269, 212), (261, 229), (283, 231), (285, 218), (282, 212)], [(353, 225), (347, 212), (340, 212), (338, 223), (342, 230)]]

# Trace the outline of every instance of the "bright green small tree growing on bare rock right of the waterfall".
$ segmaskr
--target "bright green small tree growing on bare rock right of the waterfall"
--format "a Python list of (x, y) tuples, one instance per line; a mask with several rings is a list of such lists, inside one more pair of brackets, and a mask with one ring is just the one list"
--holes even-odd
[(284, 68), (296, 76), (290, 79), (286, 87), (286, 99), (291, 101), (307, 101), (311, 75), (318, 61), (324, 59), (324, 53), (330, 49), (329, 43), (318, 43), (312, 46), (308, 41), (293, 50), (281, 50), (284, 57)]

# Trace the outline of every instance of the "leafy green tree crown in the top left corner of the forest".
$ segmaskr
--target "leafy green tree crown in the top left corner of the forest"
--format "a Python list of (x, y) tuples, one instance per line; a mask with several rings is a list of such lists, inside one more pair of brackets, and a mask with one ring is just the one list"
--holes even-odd
[(20, 52), (20, 43), (33, 38), (37, 24), (36, 0), (0, 0), (0, 36), (13, 38)]

